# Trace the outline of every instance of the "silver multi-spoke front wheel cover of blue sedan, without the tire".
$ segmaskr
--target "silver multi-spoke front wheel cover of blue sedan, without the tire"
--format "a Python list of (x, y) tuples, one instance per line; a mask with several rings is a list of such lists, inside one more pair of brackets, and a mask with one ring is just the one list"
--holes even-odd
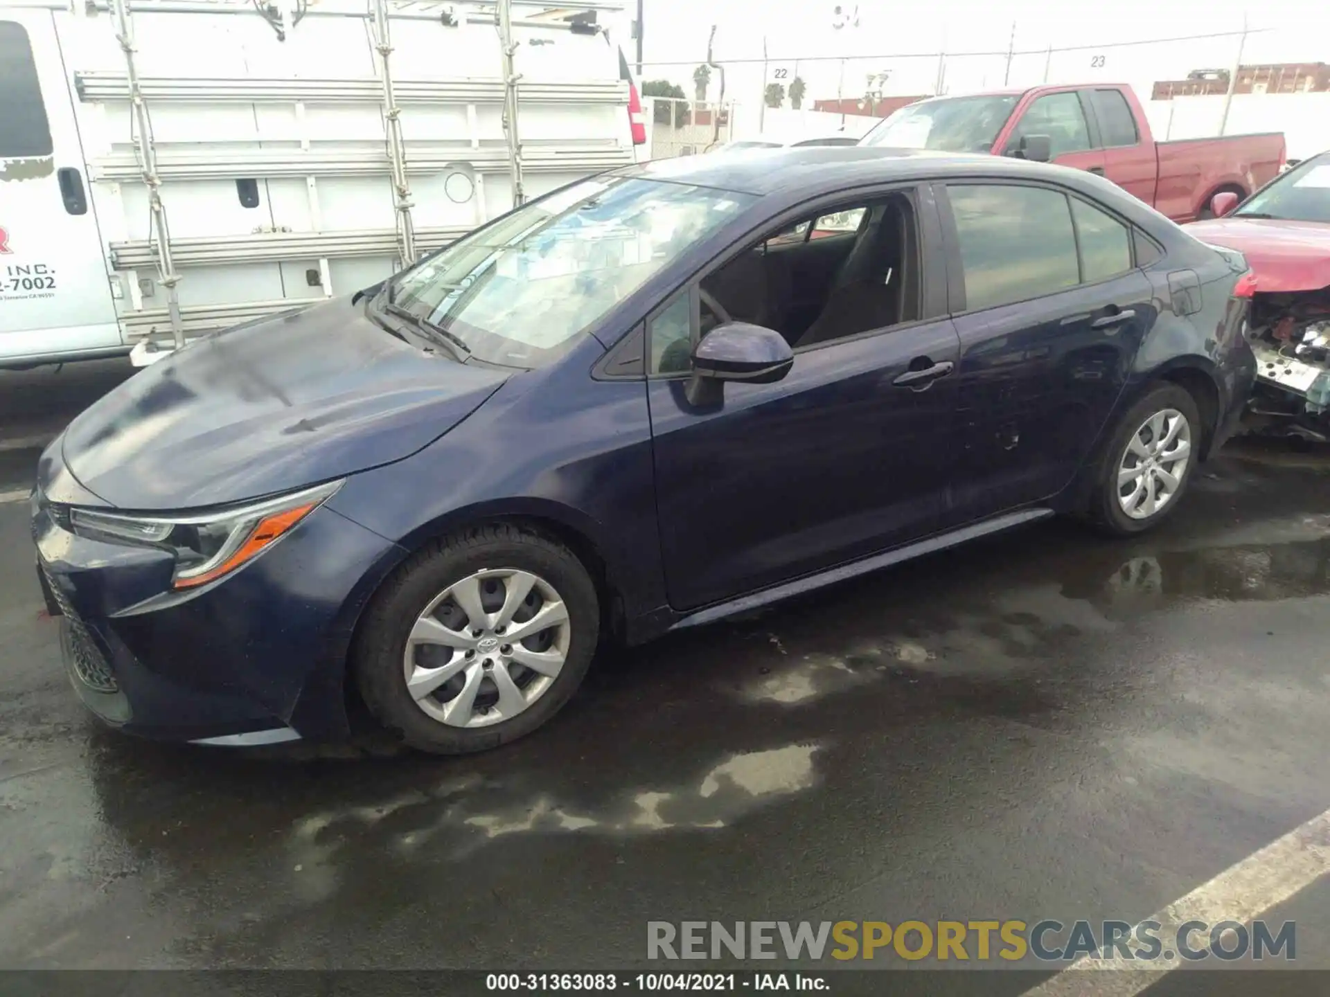
[(512, 719), (555, 683), (572, 625), (555, 588), (516, 568), (484, 569), (440, 592), (403, 655), (407, 691), (451, 727)]

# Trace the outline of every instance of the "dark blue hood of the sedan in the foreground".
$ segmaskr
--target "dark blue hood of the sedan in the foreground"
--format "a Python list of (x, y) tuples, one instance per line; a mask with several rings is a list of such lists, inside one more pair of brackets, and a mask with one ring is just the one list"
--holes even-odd
[(390, 464), (509, 376), (392, 336), (334, 299), (192, 343), (85, 411), (64, 461), (124, 509), (189, 509)]

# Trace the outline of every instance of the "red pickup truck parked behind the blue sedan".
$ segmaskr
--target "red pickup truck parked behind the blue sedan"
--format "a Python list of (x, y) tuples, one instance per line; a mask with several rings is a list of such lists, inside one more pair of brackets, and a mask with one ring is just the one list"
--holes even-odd
[(902, 108), (859, 145), (1019, 156), (1108, 177), (1174, 222), (1210, 218), (1210, 199), (1241, 201), (1283, 165), (1277, 132), (1156, 142), (1125, 84), (1033, 86), (932, 97)]

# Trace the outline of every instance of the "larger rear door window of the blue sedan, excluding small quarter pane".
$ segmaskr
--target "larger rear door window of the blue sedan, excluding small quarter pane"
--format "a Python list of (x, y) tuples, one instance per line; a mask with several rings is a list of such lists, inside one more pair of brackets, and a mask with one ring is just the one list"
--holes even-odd
[(992, 308), (1080, 280), (1067, 195), (1041, 187), (947, 189), (960, 239), (966, 307)]

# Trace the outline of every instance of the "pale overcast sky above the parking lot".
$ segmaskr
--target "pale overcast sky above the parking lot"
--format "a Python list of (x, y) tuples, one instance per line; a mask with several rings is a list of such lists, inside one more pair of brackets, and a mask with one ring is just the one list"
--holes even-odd
[[(629, 8), (634, 0), (626, 0)], [(726, 69), (726, 98), (758, 100), (765, 82), (795, 73), (807, 85), (806, 106), (814, 98), (837, 96), (841, 86), (838, 57), (858, 56), (843, 74), (846, 97), (862, 96), (870, 73), (887, 72), (888, 94), (931, 93), (938, 58), (923, 53), (992, 52), (987, 57), (958, 57), (946, 62), (944, 90), (1001, 86), (1007, 74), (1005, 51), (1012, 24), (1015, 44), (1039, 49), (1012, 60), (1009, 84), (1113, 80), (1138, 89), (1154, 80), (1177, 78), (1197, 68), (1226, 68), (1237, 56), (1238, 39), (1220, 37), (1154, 45), (1117, 43), (1218, 32), (1240, 32), (1244, 13), (1252, 33), (1244, 62), (1330, 61), (1330, 3), (1297, 0), (1115, 0), (1115, 3), (1036, 3), (1035, 0), (863, 0), (857, 4), (859, 25), (834, 29), (834, 3), (823, 0), (645, 0), (642, 76), (669, 78), (692, 96), (692, 73), (706, 55), (706, 37), (717, 25), (716, 56), (761, 58), (763, 35), (770, 62), (766, 78), (761, 64)], [(853, 8), (855, 4), (842, 4)], [(1266, 29), (1266, 31), (1258, 31)], [(633, 43), (625, 52), (633, 57)], [(1076, 52), (1048, 45), (1095, 45)], [(830, 61), (814, 61), (831, 56)], [(688, 60), (685, 65), (653, 61)], [(798, 64), (795, 65), (795, 62)], [(781, 76), (777, 70), (783, 70)], [(710, 98), (718, 92), (713, 74)]]

